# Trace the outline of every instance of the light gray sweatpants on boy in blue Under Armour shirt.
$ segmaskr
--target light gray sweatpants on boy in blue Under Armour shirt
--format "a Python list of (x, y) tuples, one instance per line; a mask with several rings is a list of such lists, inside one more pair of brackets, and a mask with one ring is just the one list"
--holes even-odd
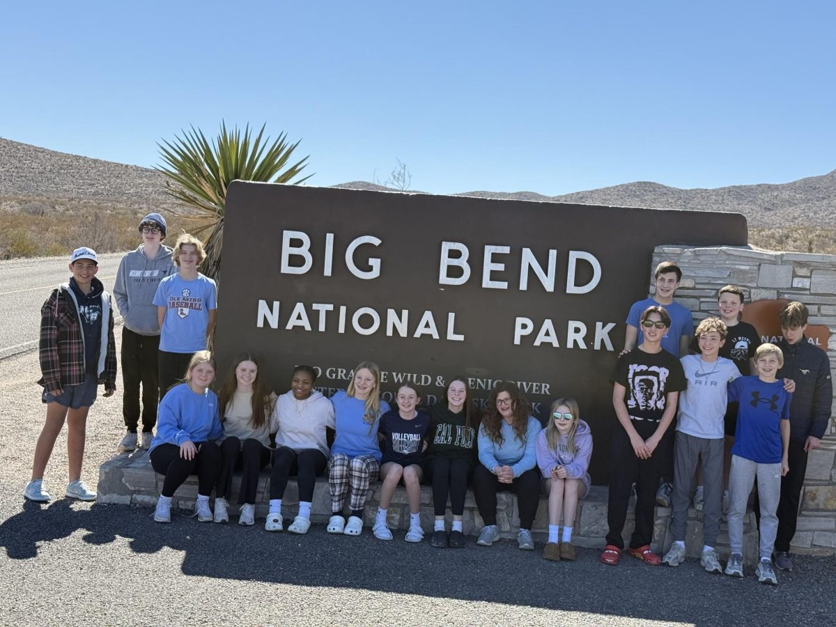
[(761, 502), (761, 558), (772, 559), (778, 530), (775, 512), (781, 500), (780, 462), (759, 464), (732, 455), (732, 471), (729, 473), (729, 544), (732, 545), (732, 553), (743, 553), (743, 516), (756, 476), (757, 497)]

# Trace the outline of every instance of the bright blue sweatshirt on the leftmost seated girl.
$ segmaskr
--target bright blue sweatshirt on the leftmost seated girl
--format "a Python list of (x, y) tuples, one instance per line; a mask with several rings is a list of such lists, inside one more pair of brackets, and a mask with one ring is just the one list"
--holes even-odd
[(148, 453), (161, 444), (180, 446), (186, 440), (195, 444), (217, 440), (223, 435), (217, 396), (212, 390), (196, 394), (188, 384), (176, 385), (160, 401), (157, 432)]

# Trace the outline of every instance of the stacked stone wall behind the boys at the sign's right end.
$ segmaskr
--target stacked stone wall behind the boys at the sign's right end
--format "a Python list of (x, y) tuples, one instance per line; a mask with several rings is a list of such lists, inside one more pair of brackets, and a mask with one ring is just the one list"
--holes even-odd
[[(752, 247), (656, 247), (650, 268), (663, 261), (682, 268), (676, 300), (689, 308), (695, 321), (716, 315), (717, 290), (728, 283), (749, 293), (747, 302), (788, 298), (810, 310), (810, 324), (830, 329), (828, 358), (831, 380), (836, 375), (836, 256), (774, 252)], [(836, 414), (834, 401), (831, 415)], [(836, 548), (836, 421), (808, 457), (798, 529), (793, 551), (832, 554)]]

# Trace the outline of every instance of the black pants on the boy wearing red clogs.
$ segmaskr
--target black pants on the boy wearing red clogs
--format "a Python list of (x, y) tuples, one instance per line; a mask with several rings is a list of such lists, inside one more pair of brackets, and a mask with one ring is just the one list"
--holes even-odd
[[(634, 426), (639, 435), (645, 440), (653, 435), (657, 422), (643, 421), (642, 425), (636, 421)], [(646, 435), (645, 435), (646, 433)], [(660, 443), (659, 446), (662, 446)], [(630, 538), (630, 548), (644, 547), (653, 539), (653, 516), (656, 505), (656, 488), (659, 486), (661, 469), (667, 460), (659, 455), (658, 447), (650, 459), (639, 459), (635, 456), (630, 437), (621, 425), (616, 425), (613, 431), (612, 452), (610, 454), (609, 469), (609, 501), (607, 504), (607, 544), (624, 548), (621, 532), (627, 519), (627, 507), (630, 505), (630, 492), (635, 482), (635, 531)]]

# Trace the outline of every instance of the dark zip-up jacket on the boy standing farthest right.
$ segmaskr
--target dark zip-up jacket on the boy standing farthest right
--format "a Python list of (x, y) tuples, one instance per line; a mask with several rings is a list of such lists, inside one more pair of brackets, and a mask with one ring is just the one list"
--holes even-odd
[(822, 438), (828, 428), (833, 403), (828, 354), (810, 344), (806, 335), (796, 344), (781, 339), (778, 347), (784, 356), (778, 378), (795, 381), (793, 403), (789, 408), (789, 438), (797, 442), (806, 441), (808, 436)]

